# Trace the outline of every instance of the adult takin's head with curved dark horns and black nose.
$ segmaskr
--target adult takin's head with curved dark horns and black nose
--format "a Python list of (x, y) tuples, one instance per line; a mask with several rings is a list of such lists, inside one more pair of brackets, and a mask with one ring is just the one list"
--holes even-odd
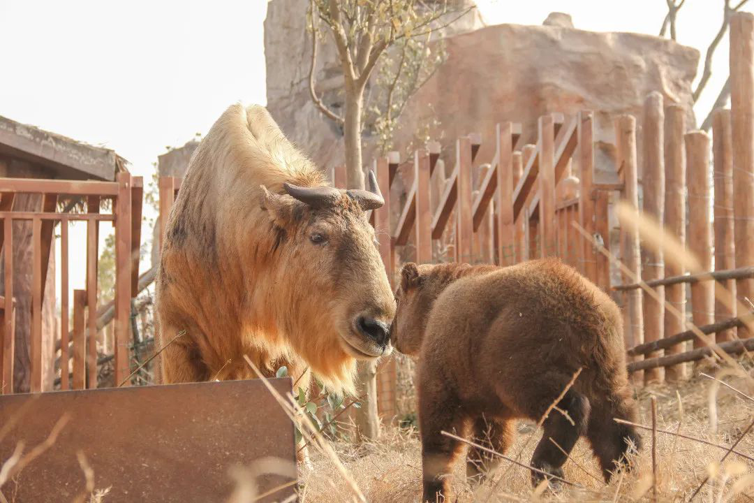
[(274, 232), (276, 288), (291, 311), (284, 318), (289, 326), (280, 328), (310, 364), (392, 351), (394, 298), (366, 219), (366, 210), (384, 204), (373, 173), (369, 186), (342, 191), (286, 183), (287, 194), (262, 190)]

